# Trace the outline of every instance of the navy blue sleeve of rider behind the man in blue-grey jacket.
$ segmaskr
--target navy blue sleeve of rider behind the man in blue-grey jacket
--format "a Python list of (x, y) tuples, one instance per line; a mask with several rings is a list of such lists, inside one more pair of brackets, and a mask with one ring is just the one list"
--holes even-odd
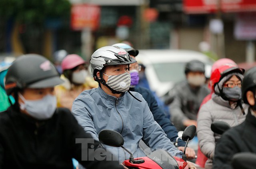
[[(164, 110), (158, 106), (158, 103), (154, 97), (154, 95), (150, 95), (150, 111), (152, 112), (155, 121), (162, 127), (164, 132), (166, 133), (168, 139), (172, 142), (176, 142), (176, 138), (178, 137), (178, 131), (176, 127), (172, 124), (170, 119), (165, 116)], [(185, 142), (181, 139), (178, 139), (178, 146), (185, 146)]]

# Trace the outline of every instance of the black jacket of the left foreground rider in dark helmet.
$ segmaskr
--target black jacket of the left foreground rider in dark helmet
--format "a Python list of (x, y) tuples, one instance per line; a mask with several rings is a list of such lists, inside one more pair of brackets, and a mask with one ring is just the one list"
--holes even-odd
[(14, 106), (0, 113), (0, 168), (72, 169), (75, 158), (88, 169), (122, 169), (117, 161), (90, 161), (97, 154), (87, 147), (99, 145), (66, 108), (56, 109), (44, 121), (20, 113)]

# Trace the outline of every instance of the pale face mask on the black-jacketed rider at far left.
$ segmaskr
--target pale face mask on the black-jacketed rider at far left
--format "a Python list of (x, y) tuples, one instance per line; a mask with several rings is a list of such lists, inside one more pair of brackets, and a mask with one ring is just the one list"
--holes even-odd
[(26, 100), (18, 93), (24, 103), (20, 103), (20, 109), (26, 110), (29, 115), (38, 120), (50, 119), (57, 107), (57, 99), (55, 95), (46, 95), (38, 100)]

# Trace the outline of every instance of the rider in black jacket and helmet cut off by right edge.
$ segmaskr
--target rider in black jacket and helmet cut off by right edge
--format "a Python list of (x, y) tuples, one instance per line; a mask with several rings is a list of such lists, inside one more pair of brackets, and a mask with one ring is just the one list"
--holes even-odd
[(213, 168), (232, 169), (232, 157), (236, 153), (256, 153), (256, 67), (246, 72), (242, 82), (242, 99), (250, 105), (246, 119), (240, 125), (226, 131), (215, 148)]

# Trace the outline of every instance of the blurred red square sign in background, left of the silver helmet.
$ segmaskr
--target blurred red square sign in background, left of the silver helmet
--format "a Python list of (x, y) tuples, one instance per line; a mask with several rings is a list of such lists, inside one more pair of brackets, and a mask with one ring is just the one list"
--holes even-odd
[(100, 22), (100, 7), (97, 5), (74, 4), (71, 8), (71, 28), (96, 30)]

